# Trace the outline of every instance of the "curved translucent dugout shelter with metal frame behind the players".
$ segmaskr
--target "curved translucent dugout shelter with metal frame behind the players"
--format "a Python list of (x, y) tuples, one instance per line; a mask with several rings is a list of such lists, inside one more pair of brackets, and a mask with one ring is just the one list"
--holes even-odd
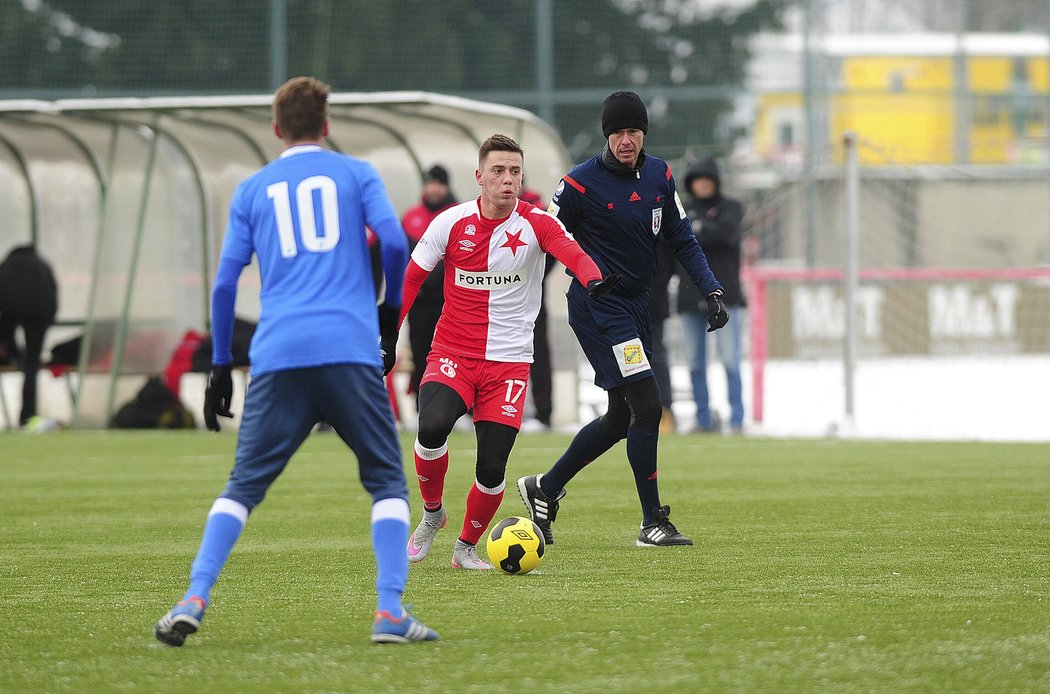
[[(61, 418), (106, 425), (144, 376), (164, 371), (186, 331), (210, 330), (229, 199), (282, 148), (271, 103), (271, 94), (0, 101), (0, 257), (37, 246), (59, 279), (48, 345), (80, 338), (76, 363), (60, 374)], [(436, 163), (459, 199), (477, 195), (478, 147), (496, 132), (521, 144), (533, 189), (553, 190), (570, 168), (558, 134), (523, 109), (417, 91), (333, 93), (330, 103), (329, 146), (371, 162), (399, 214), (419, 201)], [(238, 317), (257, 318), (257, 286), (251, 268)], [(7, 380), (0, 394), (17, 401)]]

